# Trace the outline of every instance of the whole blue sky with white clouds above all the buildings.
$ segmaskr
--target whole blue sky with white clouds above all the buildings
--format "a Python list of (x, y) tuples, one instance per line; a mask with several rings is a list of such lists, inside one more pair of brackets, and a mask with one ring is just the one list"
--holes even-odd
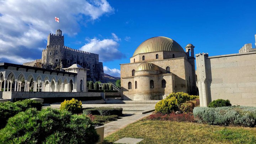
[(47, 35), (58, 28), (54, 16), (60, 17), (65, 46), (100, 54), (105, 73), (113, 76), (119, 76), (119, 64), (129, 63), (140, 43), (155, 36), (172, 38), (182, 47), (192, 43), (195, 54), (238, 53), (246, 43), (255, 47), (255, 6), (253, 0), (4, 0), (0, 62), (40, 58)]

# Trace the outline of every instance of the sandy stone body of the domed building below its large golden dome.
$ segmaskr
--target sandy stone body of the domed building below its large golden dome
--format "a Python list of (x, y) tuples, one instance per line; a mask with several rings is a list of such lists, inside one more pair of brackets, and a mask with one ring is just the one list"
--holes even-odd
[[(157, 42), (155, 42), (157, 43)], [(168, 45), (158, 43), (156, 45)], [(154, 47), (154, 46), (147, 46)], [(160, 50), (138, 53), (130, 63), (121, 64), (121, 91), (124, 100), (161, 100), (172, 92), (196, 91), (193, 48), (182, 51)], [(139, 47), (138, 47), (139, 48)], [(138, 49), (137, 48), (137, 49)], [(149, 48), (149, 49), (150, 49)], [(168, 46), (162, 48), (166, 49)], [(175, 49), (175, 48), (173, 48)], [(152, 83), (153, 81), (153, 87)]]

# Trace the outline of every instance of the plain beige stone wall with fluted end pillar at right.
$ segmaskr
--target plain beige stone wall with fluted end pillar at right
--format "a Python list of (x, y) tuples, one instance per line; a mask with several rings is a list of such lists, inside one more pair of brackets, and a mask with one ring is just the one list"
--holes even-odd
[(256, 52), (213, 57), (197, 54), (196, 62), (202, 106), (219, 98), (232, 105), (256, 106)]

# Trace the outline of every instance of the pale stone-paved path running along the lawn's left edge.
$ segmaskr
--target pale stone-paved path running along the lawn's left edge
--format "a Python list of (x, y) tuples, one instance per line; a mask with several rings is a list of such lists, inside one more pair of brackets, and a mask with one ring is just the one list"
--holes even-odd
[(146, 113), (146, 114), (133, 114), (130, 116), (121, 117), (121, 119), (118, 119), (117, 121), (104, 124), (105, 126), (104, 137), (106, 137), (107, 135), (113, 132), (116, 132), (117, 130), (127, 126), (130, 123), (133, 123), (135, 121), (138, 121), (139, 119), (142, 119), (145, 116), (149, 116), (150, 114), (152, 114), (152, 112)]

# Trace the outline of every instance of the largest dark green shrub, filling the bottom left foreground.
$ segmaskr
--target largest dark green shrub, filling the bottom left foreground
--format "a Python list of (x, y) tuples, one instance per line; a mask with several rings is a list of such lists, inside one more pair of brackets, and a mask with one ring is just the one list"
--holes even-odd
[(11, 117), (0, 130), (0, 143), (95, 144), (99, 135), (89, 117), (52, 108), (30, 108)]

